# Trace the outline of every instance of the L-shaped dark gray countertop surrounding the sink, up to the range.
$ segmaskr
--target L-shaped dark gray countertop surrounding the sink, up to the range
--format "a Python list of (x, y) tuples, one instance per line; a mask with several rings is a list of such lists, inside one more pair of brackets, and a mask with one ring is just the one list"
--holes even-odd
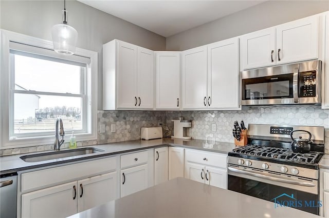
[[(92, 158), (99, 158), (111, 155), (117, 155), (125, 152), (139, 151), (143, 149), (149, 148), (157, 148), (162, 146), (177, 146), (191, 149), (198, 149), (203, 151), (212, 151), (227, 154), (231, 151), (235, 146), (234, 143), (226, 143), (226, 142), (214, 142), (214, 141), (206, 141), (206, 140), (181, 140), (181, 139), (172, 139), (172, 138), (159, 138), (155, 140), (133, 140), (133, 141), (125, 141), (125, 142), (116, 142), (116, 143), (108, 143), (101, 145), (92, 145), (92, 146), (84, 146), (84, 147), (93, 147), (104, 150), (103, 152), (93, 153), (93, 154), (85, 154), (79, 156), (58, 158), (49, 161), (41, 161), (41, 162), (33, 162), (27, 163), (21, 160), (20, 156), (35, 154), (35, 153), (46, 153), (53, 151), (44, 151), (44, 152), (33, 152), (33, 153), (25, 153), (25, 154), (15, 154), (8, 156), (0, 157), (0, 174), (13, 173), (22, 170), (35, 169), (39, 167), (46, 166), (54, 166), (59, 164), (66, 164), (78, 161), (87, 161)], [(81, 147), (78, 147), (81, 148)], [(68, 150), (68, 149), (63, 149)]]

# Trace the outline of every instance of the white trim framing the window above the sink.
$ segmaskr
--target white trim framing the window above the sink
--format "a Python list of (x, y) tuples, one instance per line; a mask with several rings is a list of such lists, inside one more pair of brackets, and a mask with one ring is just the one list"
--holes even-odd
[[(15, 33), (7, 30), (0, 29), (0, 48), (1, 48), (1, 60), (0, 60), (0, 149), (8, 148), (21, 148), (38, 145), (48, 145), (54, 142), (54, 135), (40, 136), (33, 138), (22, 138), (17, 140), (9, 140), (9, 104), (10, 104), (10, 53), (9, 43), (18, 42), (26, 45), (46, 48), (53, 50), (52, 42), (44, 39)], [(86, 114), (86, 120), (90, 122), (87, 125), (87, 132), (83, 134), (77, 134), (77, 141), (89, 141), (97, 140), (97, 58), (98, 53), (95, 51), (89, 51), (81, 48), (76, 49), (77, 55), (90, 58), (90, 70), (87, 72), (87, 80), (90, 80), (87, 88), (87, 102), (90, 111)], [(65, 59), (65, 55), (59, 55)], [(65, 126), (64, 126), (65, 130)], [(64, 137), (66, 142), (69, 142), (69, 135)]]

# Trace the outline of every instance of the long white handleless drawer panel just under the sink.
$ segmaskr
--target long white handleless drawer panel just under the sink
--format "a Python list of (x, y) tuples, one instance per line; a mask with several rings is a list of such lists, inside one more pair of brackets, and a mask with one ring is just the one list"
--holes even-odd
[(22, 173), (22, 192), (57, 185), (65, 181), (80, 179), (117, 168), (117, 157), (102, 158), (61, 167), (53, 167)]

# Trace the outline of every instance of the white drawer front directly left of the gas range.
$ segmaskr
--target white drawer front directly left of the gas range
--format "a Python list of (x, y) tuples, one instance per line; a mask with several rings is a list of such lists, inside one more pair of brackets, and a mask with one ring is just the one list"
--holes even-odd
[(227, 155), (225, 154), (187, 149), (185, 151), (185, 160), (198, 164), (227, 168)]

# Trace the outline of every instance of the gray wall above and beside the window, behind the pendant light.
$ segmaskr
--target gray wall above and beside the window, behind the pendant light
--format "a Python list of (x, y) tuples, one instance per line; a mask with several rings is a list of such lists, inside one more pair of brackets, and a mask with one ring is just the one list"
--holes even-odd
[[(64, 1), (0, 0), (0, 28), (51, 41), (51, 27), (62, 22)], [(151, 50), (166, 50), (166, 38), (118, 17), (66, 1), (68, 24), (78, 31), (77, 47), (98, 52), (98, 108), (102, 103), (102, 45), (114, 38)]]

